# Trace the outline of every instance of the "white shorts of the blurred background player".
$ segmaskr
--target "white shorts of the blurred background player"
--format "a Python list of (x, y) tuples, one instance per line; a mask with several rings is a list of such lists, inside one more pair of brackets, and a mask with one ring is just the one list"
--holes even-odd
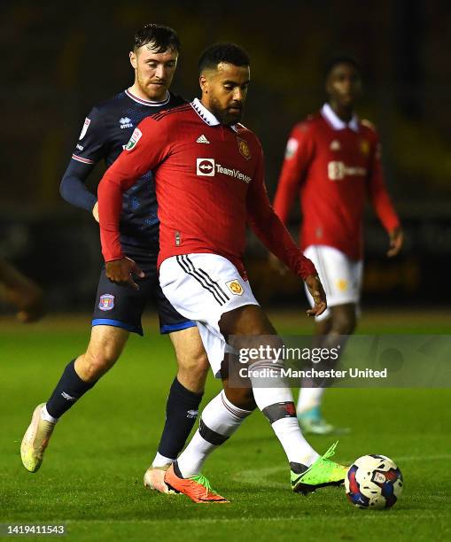
[[(327, 306), (355, 303), (357, 313), (359, 313), (363, 274), (362, 260), (349, 259), (344, 252), (323, 244), (311, 244), (304, 251), (304, 255), (315, 264), (326, 292)], [(310, 305), (314, 306), (313, 298), (307, 287), (306, 292)], [(316, 320), (322, 321), (327, 318), (330, 318), (329, 308)]]

